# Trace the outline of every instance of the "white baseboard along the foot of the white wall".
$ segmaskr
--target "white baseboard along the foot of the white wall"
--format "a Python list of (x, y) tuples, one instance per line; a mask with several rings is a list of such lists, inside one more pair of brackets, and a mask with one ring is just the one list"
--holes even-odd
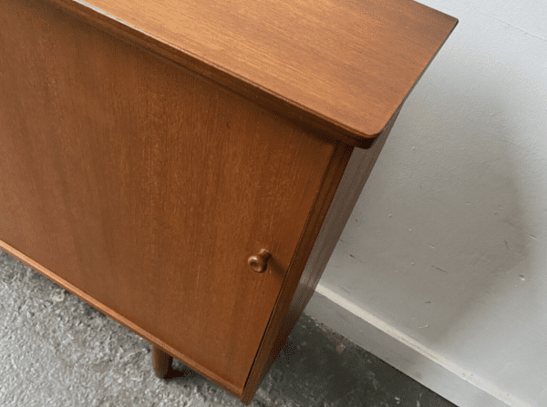
[(459, 407), (532, 407), (431, 351), (319, 282), (304, 313)]

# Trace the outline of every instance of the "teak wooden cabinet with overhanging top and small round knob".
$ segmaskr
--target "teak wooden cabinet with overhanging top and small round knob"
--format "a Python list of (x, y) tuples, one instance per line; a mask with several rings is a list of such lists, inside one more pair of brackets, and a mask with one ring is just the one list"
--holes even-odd
[(408, 0), (0, 3), (0, 247), (243, 402), (457, 20)]

